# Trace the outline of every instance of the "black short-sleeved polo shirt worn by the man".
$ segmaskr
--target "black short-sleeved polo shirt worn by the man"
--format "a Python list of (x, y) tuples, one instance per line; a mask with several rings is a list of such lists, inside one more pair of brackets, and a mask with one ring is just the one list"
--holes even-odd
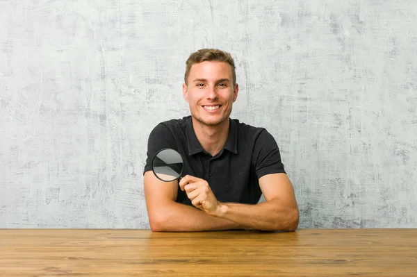
[[(199, 144), (191, 116), (161, 122), (149, 135), (144, 173), (152, 171), (156, 152), (172, 148), (184, 158), (183, 176), (206, 180), (218, 201), (258, 203), (262, 194), (259, 178), (265, 174), (286, 173), (277, 142), (265, 128), (240, 123), (238, 119), (229, 121), (229, 135), (223, 149), (215, 156)], [(177, 202), (192, 205), (179, 187)]]

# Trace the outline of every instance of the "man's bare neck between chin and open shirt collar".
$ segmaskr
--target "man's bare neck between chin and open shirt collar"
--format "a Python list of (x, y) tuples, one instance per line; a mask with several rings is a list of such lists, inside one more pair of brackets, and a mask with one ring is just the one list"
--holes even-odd
[(192, 118), (197, 140), (206, 152), (210, 153), (211, 156), (215, 156), (222, 150), (229, 135), (229, 119), (216, 126), (207, 126), (197, 121), (194, 117)]

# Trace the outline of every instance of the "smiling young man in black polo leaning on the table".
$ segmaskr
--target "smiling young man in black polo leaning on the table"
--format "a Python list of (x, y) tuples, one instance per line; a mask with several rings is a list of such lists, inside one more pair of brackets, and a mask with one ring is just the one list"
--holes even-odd
[[(200, 49), (188, 58), (184, 81), (191, 115), (149, 135), (144, 185), (152, 230), (295, 230), (297, 201), (274, 137), (229, 118), (239, 91), (233, 58)], [(184, 158), (179, 182), (152, 172), (152, 158), (164, 148)], [(258, 203), (261, 194), (266, 201)]]

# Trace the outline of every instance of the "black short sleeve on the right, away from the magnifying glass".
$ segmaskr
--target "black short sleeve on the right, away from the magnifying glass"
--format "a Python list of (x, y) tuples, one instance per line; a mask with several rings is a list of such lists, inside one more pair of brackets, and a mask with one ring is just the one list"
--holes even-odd
[(265, 129), (256, 138), (253, 157), (258, 178), (267, 174), (286, 173), (277, 142)]

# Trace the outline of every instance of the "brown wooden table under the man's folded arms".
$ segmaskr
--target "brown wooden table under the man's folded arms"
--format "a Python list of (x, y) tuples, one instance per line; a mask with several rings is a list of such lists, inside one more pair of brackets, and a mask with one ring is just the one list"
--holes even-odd
[(0, 230), (0, 276), (417, 276), (417, 229)]

